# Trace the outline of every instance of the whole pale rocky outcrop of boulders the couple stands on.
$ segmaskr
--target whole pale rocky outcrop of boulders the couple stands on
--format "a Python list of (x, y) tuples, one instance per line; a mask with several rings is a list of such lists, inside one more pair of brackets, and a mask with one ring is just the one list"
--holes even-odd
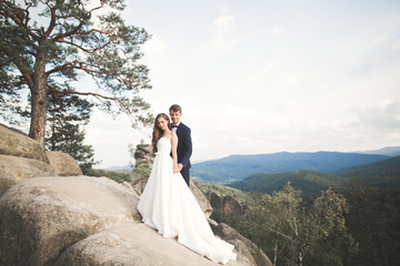
[[(0, 265), (216, 265), (142, 224), (129, 183), (83, 176), (68, 155), (51, 156), (0, 126)], [(210, 224), (236, 246), (228, 265), (271, 265), (231, 227)]]

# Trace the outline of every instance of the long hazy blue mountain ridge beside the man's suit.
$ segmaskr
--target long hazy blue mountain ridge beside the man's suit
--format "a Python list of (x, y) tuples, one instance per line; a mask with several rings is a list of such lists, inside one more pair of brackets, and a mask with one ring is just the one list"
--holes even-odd
[(191, 175), (204, 182), (227, 184), (241, 181), (256, 173), (284, 173), (297, 170), (330, 173), (388, 157), (387, 155), (339, 152), (230, 155), (220, 160), (193, 164)]

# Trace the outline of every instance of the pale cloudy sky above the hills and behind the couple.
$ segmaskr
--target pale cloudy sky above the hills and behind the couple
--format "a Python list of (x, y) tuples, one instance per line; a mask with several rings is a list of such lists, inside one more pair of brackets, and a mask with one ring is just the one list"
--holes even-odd
[[(400, 145), (400, 1), (127, 0), (151, 112), (182, 106), (192, 162)], [(96, 112), (98, 167), (127, 165), (151, 129)]]

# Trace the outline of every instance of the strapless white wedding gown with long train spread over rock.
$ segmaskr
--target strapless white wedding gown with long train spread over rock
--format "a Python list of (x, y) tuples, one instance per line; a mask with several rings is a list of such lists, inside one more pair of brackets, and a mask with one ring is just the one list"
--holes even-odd
[(138, 204), (144, 224), (216, 263), (236, 259), (233, 245), (217, 238), (180, 173), (173, 174), (171, 142), (157, 143), (150, 177)]

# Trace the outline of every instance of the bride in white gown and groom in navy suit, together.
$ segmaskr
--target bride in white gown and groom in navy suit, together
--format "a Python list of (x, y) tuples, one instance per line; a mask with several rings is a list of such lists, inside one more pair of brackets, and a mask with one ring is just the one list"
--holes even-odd
[(138, 211), (143, 223), (163, 237), (178, 237), (178, 243), (193, 252), (226, 264), (236, 259), (234, 246), (213, 235), (189, 188), (191, 132), (180, 122), (182, 109), (178, 104), (169, 112), (173, 124), (164, 113), (156, 117), (152, 145), (157, 155)]

